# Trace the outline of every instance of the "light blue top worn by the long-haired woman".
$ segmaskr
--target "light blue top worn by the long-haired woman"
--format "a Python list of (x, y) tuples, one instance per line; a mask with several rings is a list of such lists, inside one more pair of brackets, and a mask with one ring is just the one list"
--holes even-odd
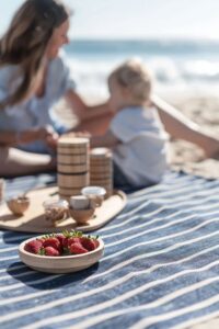
[[(0, 102), (16, 89), (21, 79), (19, 66), (0, 68)], [(65, 64), (64, 55), (50, 60), (44, 95), (42, 98), (34, 95), (22, 103), (0, 110), (0, 132), (22, 132), (45, 125), (53, 125), (56, 131), (61, 131), (62, 126), (55, 116), (53, 107), (68, 90), (74, 88), (76, 84)], [(48, 151), (42, 140), (21, 145), (20, 148), (33, 152)]]

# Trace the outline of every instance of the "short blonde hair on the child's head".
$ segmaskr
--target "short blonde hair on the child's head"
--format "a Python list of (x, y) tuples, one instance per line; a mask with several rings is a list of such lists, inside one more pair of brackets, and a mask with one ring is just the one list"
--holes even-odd
[(118, 66), (108, 77), (114, 78), (120, 87), (128, 88), (134, 102), (145, 103), (150, 100), (151, 75), (137, 59), (129, 59)]

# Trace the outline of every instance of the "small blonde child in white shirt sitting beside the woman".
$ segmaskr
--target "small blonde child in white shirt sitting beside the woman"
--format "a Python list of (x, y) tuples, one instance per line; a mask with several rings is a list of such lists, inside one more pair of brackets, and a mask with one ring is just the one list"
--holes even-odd
[(108, 87), (115, 116), (104, 136), (91, 137), (91, 147), (112, 148), (115, 185), (136, 189), (158, 183), (168, 168), (168, 135), (157, 110), (150, 107), (148, 70), (128, 60), (111, 73)]

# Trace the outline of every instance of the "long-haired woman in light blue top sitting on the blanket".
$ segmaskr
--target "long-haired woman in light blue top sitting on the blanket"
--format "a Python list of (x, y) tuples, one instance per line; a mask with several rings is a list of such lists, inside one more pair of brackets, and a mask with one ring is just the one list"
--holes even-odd
[[(112, 118), (107, 103), (88, 106), (81, 100), (59, 56), (69, 43), (69, 16), (58, 0), (26, 0), (0, 41), (0, 175), (55, 168), (53, 149), (65, 132), (53, 113), (60, 98), (79, 117), (78, 129), (101, 134)], [(171, 135), (196, 143), (208, 155), (218, 151), (218, 140), (158, 98), (153, 102)]]

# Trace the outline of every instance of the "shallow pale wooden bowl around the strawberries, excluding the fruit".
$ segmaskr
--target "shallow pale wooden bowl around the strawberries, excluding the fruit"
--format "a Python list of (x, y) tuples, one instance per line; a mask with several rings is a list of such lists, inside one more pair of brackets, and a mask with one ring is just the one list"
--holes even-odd
[(41, 237), (42, 236), (25, 240), (19, 247), (21, 261), (39, 272), (56, 274), (81, 271), (95, 264), (104, 253), (104, 242), (101, 238), (99, 238), (100, 245), (95, 250), (82, 254), (49, 257), (30, 253), (24, 250), (25, 243)]

